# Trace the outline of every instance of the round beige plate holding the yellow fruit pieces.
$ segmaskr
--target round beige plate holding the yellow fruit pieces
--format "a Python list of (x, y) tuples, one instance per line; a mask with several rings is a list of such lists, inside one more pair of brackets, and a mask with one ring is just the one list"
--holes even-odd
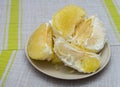
[(110, 60), (110, 45), (108, 44), (108, 42), (105, 43), (104, 48), (100, 52), (101, 67), (96, 72), (90, 73), (90, 74), (84, 74), (84, 73), (77, 72), (74, 69), (69, 68), (63, 64), (54, 65), (47, 61), (33, 60), (28, 56), (27, 44), (26, 44), (25, 52), (26, 52), (26, 56), (29, 62), (38, 71), (48, 76), (58, 78), (58, 79), (65, 79), (65, 80), (76, 80), (76, 79), (83, 79), (83, 78), (93, 76), (97, 74), (98, 72), (100, 72), (108, 64)]

